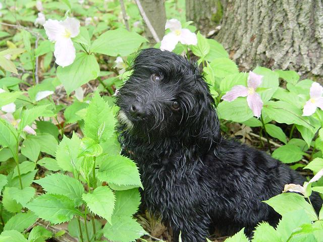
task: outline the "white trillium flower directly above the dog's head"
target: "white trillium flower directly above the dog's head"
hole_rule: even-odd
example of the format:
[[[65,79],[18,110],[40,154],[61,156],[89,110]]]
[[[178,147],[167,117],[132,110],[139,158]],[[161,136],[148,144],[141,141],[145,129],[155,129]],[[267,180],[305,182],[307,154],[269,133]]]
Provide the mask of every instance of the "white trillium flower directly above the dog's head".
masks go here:
[[[170,29],[171,32],[164,36],[161,40],[160,49],[172,51],[178,42],[182,44],[197,44],[197,37],[189,29],[182,29],[181,22],[177,19],[166,21],[165,29]]]

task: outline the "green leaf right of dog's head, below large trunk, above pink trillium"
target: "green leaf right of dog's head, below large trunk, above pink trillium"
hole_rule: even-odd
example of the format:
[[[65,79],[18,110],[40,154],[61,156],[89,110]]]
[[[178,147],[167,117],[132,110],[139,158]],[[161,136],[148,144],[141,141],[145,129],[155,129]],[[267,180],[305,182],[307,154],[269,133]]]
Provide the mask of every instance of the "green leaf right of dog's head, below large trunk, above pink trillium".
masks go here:
[[[216,58],[210,63],[214,76],[224,78],[239,73],[237,65],[229,58]]]

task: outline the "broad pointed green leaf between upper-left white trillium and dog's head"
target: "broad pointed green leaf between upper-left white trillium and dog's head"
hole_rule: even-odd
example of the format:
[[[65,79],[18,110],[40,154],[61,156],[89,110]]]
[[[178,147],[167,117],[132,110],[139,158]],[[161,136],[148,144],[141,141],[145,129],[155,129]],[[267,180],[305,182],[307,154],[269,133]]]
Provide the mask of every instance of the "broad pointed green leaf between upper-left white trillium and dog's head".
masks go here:
[[[126,56],[135,52],[147,40],[141,35],[119,28],[101,34],[91,46],[91,52],[110,56]]]

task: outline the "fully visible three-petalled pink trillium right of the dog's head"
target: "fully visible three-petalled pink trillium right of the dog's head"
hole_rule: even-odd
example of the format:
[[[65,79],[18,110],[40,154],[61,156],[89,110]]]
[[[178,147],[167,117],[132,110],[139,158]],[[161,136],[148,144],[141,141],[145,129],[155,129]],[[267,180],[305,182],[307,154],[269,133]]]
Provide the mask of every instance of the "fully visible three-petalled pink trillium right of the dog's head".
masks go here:
[[[249,72],[248,87],[242,85],[234,86],[222,99],[231,102],[238,97],[247,97],[248,106],[253,111],[253,115],[260,117],[263,102],[260,95],[256,93],[256,89],[261,84],[261,79],[262,76]]]

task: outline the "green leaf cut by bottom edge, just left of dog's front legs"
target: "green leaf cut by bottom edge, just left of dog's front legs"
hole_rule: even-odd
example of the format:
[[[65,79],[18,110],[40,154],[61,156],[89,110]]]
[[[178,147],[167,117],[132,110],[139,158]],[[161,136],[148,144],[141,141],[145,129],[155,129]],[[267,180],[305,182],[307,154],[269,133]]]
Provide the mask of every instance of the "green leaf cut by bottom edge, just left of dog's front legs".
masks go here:
[[[106,223],[103,227],[104,237],[112,241],[129,242],[147,234],[133,218],[123,216],[113,219],[112,224]]]

